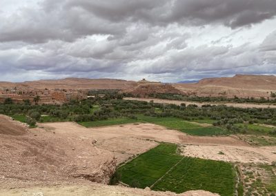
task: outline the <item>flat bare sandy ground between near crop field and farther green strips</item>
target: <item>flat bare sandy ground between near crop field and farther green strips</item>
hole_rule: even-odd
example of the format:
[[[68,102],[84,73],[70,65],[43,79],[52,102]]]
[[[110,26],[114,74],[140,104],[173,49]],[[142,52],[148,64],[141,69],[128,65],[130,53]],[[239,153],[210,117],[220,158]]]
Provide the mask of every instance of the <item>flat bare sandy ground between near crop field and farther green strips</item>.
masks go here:
[[[183,154],[191,157],[256,164],[270,164],[276,160],[276,146],[249,146],[237,137],[190,136],[155,124],[84,128],[72,122],[65,122],[43,124],[43,126],[55,130],[57,134],[63,133],[64,130],[74,130],[82,137],[93,137],[97,139],[97,147],[115,153],[119,163],[153,148],[157,145],[155,141],[186,144],[184,145],[186,147],[182,147]],[[219,155],[219,152],[224,155]]]

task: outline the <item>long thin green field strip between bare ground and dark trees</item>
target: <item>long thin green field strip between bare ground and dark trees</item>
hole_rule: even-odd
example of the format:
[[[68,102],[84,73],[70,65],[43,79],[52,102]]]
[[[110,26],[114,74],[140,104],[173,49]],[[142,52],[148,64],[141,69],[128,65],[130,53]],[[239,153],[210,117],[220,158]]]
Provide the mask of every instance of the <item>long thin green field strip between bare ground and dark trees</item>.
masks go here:
[[[189,135],[228,135],[228,131],[219,127],[201,127],[196,124],[192,124],[183,119],[175,117],[150,117],[145,115],[137,115],[137,119],[118,118],[118,119],[107,119],[101,121],[86,121],[79,122],[82,126],[86,127],[97,127],[97,126],[111,126],[118,124],[130,124],[135,122],[157,124],[164,126],[169,129],[179,130]]]

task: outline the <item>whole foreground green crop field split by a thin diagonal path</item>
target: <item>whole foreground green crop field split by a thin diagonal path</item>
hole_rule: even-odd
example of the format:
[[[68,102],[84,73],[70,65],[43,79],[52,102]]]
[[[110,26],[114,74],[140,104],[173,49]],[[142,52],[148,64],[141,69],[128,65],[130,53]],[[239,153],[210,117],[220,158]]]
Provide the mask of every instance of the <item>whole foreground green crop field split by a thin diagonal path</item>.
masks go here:
[[[182,157],[176,151],[176,144],[160,144],[119,167],[116,176],[121,182],[137,188],[153,185],[153,190],[175,193],[200,189],[221,196],[234,194],[235,170],[231,164]]]

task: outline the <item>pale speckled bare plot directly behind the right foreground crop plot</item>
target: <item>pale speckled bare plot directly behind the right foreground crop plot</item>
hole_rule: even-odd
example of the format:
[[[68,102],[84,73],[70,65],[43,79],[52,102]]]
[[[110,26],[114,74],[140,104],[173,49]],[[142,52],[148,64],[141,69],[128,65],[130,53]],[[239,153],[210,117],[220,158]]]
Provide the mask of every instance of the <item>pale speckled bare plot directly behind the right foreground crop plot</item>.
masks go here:
[[[228,162],[271,164],[276,160],[276,146],[181,146],[181,155]]]

